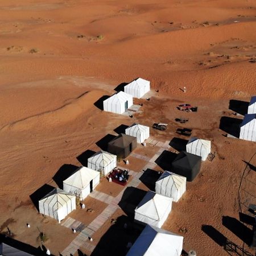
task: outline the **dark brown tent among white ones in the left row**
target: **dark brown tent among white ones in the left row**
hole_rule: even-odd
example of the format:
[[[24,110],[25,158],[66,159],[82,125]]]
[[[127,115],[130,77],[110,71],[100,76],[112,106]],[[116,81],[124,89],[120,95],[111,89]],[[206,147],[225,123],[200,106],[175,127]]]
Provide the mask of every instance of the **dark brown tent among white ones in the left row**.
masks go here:
[[[136,137],[121,133],[108,143],[108,152],[121,158],[126,158],[136,147]]]

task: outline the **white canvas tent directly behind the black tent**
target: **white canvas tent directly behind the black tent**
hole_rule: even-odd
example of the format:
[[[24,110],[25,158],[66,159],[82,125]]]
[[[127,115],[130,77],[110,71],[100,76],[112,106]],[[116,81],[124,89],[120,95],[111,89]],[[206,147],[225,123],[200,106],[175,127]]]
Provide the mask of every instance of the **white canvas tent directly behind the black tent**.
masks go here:
[[[205,161],[210,154],[210,141],[192,137],[187,143],[186,150],[188,153],[201,156]]]

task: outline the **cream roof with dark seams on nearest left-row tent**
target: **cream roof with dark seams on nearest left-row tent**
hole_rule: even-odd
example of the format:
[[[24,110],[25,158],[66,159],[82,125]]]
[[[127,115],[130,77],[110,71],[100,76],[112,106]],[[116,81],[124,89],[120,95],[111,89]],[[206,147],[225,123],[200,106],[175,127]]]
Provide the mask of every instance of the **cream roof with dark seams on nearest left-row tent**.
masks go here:
[[[73,197],[75,196],[70,195],[68,192],[63,191],[60,188],[55,188],[39,200],[39,202],[43,201],[44,203],[53,205],[52,207],[54,209],[59,209],[63,207],[63,205],[67,204],[67,202]]]

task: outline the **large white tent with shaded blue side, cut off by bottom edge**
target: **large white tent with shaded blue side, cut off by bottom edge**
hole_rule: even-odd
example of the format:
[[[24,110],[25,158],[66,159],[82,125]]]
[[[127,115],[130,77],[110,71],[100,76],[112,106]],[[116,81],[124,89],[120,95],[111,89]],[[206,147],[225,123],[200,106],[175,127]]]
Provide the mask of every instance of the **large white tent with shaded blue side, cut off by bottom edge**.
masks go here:
[[[180,256],[183,237],[147,225],[126,256]]]

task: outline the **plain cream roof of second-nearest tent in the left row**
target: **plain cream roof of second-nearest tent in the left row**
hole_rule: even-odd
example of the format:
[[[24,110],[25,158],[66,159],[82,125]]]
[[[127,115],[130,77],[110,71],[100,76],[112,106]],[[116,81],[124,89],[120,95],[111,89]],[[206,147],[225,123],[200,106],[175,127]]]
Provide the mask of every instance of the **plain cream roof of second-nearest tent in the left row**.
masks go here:
[[[100,172],[94,171],[87,167],[79,167],[79,169],[64,180],[63,183],[71,185],[76,188],[83,189],[88,186],[91,180],[99,176]]]

